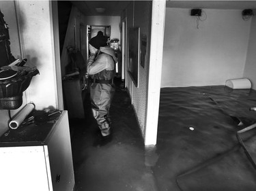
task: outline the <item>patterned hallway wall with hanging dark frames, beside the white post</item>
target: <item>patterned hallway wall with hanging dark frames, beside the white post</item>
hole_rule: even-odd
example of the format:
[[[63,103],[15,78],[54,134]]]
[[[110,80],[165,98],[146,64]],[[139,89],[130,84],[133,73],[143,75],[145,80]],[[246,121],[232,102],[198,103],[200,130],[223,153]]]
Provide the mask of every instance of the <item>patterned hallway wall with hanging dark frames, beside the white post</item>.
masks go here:
[[[145,130],[145,111],[147,103],[147,80],[150,63],[150,30],[151,30],[152,1],[132,1],[126,10],[127,29],[139,27],[140,35],[147,39],[147,50],[145,54],[145,67],[139,63],[139,85],[134,86],[130,75],[127,73],[128,92],[132,99],[139,126],[144,136]],[[128,33],[129,38],[129,33]],[[127,45],[128,47],[128,45]],[[128,63],[128,52],[126,53]]]

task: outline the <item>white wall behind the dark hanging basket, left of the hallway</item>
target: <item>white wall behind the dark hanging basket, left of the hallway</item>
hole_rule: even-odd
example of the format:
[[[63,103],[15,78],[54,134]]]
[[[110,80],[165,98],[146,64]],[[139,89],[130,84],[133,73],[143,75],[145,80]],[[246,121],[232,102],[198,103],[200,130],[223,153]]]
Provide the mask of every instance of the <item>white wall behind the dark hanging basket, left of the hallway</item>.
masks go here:
[[[27,100],[35,109],[58,108],[51,1],[16,1],[16,11],[27,65],[40,71],[27,89]]]

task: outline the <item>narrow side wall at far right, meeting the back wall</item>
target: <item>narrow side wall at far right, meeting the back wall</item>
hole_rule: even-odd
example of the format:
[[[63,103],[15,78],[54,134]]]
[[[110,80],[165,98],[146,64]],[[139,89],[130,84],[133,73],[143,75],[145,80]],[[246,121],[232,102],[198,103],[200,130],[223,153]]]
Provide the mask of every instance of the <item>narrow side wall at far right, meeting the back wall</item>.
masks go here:
[[[251,33],[248,43],[244,77],[251,80],[252,88],[256,90],[256,17],[251,18]]]

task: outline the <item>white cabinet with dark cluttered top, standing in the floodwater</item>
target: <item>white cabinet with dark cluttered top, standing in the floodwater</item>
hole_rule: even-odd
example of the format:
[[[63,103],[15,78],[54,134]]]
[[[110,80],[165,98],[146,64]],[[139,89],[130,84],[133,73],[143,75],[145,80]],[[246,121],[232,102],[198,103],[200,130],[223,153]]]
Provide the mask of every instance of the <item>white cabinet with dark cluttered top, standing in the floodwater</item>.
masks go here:
[[[0,190],[71,191],[74,169],[68,112],[0,137]]]

